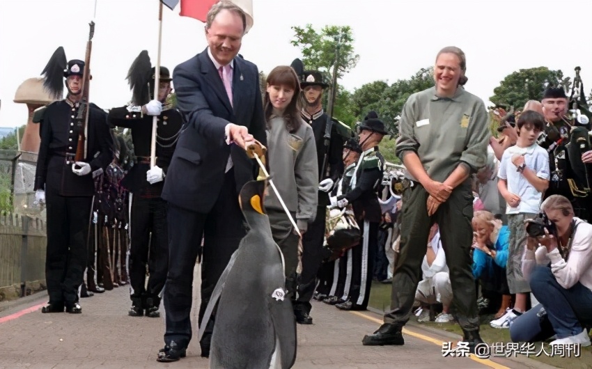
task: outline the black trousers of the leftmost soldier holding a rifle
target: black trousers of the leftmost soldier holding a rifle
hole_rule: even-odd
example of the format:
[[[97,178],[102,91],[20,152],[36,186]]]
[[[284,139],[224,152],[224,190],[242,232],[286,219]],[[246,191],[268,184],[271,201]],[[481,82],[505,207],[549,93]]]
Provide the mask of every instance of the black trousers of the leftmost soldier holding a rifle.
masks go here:
[[[47,253],[45,279],[49,303],[78,301],[84,283],[88,253],[87,237],[92,197],[65,197],[46,190]]]

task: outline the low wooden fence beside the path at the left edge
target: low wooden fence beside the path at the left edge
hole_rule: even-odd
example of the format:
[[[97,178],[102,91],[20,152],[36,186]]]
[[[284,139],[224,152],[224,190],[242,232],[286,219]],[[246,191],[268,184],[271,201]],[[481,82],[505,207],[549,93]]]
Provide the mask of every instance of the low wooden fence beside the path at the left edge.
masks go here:
[[[45,221],[0,214],[0,301],[45,289]]]

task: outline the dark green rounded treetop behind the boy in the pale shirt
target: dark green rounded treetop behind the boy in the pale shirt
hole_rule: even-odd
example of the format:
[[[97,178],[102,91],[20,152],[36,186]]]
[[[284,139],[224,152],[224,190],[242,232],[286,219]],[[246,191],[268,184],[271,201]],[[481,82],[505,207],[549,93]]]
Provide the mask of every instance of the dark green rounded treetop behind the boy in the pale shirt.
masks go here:
[[[522,109],[528,100],[540,100],[545,86],[563,86],[569,91],[570,77],[563,78],[561,70],[550,70],[547,67],[521,69],[508,74],[499,86],[493,89],[490,101],[501,107]]]

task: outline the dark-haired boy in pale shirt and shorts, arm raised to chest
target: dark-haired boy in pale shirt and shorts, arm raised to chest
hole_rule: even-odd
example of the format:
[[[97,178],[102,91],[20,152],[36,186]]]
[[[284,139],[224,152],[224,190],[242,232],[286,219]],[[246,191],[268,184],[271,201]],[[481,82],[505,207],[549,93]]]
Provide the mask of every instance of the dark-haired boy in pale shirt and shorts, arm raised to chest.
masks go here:
[[[524,220],[538,214],[543,193],[549,187],[549,154],[536,143],[545,127],[545,118],[536,111],[524,111],[516,123],[518,140],[504,151],[497,174],[497,187],[506,200],[510,228],[510,247],[506,274],[510,293],[516,295],[513,309],[491,322],[494,328],[508,328],[511,321],[526,310],[529,283],[522,275],[522,250],[527,233]]]

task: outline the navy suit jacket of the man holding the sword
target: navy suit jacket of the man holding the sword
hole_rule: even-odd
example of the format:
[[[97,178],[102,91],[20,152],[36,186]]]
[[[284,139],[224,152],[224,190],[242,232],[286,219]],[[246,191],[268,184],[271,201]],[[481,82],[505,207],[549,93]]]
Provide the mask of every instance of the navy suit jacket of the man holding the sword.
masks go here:
[[[259,72],[253,63],[234,58],[231,105],[205,49],[177,65],[173,86],[184,123],[166,173],[162,198],[172,205],[207,214],[219,196],[230,155],[237,196],[242,186],[255,178],[256,162],[242,148],[226,144],[224,128],[228,123],[244,125],[266,145]]]

